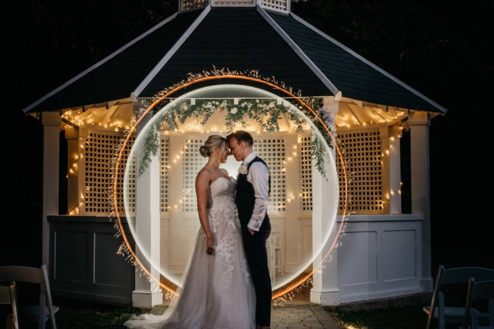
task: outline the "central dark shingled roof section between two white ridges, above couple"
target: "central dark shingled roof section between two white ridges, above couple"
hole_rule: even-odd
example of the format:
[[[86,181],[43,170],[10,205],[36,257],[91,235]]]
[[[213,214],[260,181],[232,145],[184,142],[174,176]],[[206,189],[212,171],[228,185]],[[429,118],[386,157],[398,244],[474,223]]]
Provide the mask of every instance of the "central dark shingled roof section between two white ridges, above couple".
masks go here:
[[[301,89],[304,96],[332,95],[255,7],[217,7],[211,8],[139,97],[151,97],[184,79],[188,72],[210,70],[213,65],[240,71],[257,69],[261,76],[274,76],[295,90]],[[193,85],[184,92],[218,83],[255,85],[272,91],[245,80],[215,80]]]

